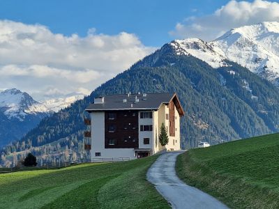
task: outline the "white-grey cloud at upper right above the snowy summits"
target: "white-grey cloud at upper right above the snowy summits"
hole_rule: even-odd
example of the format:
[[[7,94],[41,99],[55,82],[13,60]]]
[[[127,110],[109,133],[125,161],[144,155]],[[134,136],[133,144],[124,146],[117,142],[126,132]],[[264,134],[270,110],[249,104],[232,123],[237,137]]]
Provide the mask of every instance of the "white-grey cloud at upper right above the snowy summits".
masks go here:
[[[262,0],[229,1],[211,15],[186,18],[169,33],[176,38],[213,40],[229,29],[264,21],[279,22],[279,3]]]

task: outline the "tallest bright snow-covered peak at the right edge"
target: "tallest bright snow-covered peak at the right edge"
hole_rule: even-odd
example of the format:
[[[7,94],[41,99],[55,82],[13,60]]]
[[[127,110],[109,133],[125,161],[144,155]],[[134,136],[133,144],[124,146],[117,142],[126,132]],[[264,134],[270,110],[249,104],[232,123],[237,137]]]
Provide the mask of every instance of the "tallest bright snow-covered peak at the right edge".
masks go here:
[[[232,29],[213,42],[227,59],[279,86],[279,22]]]

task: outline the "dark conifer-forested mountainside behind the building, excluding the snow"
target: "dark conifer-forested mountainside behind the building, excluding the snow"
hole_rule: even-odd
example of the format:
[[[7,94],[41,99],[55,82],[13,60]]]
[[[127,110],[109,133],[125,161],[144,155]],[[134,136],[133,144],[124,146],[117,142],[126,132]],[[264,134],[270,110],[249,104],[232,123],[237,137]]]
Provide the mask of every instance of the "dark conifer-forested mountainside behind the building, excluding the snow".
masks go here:
[[[5,152],[64,137],[83,139],[84,109],[96,95],[176,92],[186,111],[181,118],[183,148],[197,146],[198,141],[218,144],[223,141],[279,131],[278,88],[229,62],[218,69],[194,56],[178,56],[172,45],[164,45],[129,70],[96,88],[90,96],[43,119],[21,141]]]

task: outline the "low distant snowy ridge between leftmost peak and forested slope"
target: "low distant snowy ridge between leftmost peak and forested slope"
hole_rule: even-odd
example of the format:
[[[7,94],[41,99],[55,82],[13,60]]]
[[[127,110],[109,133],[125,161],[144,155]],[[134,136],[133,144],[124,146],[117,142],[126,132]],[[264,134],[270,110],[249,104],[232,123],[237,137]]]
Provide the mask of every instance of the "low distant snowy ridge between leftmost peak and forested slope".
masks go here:
[[[70,104],[77,100],[82,100],[84,98],[84,95],[73,95],[67,98],[57,98],[57,99],[51,99],[51,100],[45,100],[42,101],[43,104],[45,104],[45,107],[47,109],[50,109],[52,111],[59,111],[60,109],[69,107]]]

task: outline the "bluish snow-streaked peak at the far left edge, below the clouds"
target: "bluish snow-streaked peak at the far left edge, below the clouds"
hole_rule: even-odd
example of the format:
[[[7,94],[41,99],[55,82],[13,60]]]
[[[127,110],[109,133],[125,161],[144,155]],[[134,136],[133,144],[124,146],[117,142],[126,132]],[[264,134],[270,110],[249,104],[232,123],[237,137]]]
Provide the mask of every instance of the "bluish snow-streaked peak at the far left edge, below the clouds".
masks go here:
[[[27,115],[50,114],[44,104],[36,102],[28,93],[16,88],[0,92],[0,111],[3,111],[9,119],[17,118],[24,121]]]

